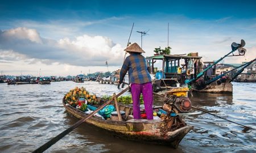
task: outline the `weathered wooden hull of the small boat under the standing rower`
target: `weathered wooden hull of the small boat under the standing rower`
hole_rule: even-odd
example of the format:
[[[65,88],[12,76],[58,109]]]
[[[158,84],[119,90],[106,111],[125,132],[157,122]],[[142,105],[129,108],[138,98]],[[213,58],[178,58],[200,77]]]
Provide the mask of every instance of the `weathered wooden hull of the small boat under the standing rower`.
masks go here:
[[[97,97],[97,101],[100,104],[106,102],[99,97]],[[67,101],[65,101],[65,97],[63,98],[63,105],[68,113],[76,118],[81,119],[88,116],[85,112],[69,105]],[[114,102],[112,105],[114,105]],[[120,138],[144,143],[168,145],[173,148],[177,148],[181,139],[192,129],[192,126],[186,125],[184,121],[181,121],[183,124],[179,124],[179,128],[168,131],[163,130],[163,126],[166,124],[164,124],[162,120],[129,120],[128,116],[133,114],[133,107],[122,103],[118,103],[118,107],[120,111],[125,112],[125,116],[122,117],[123,121],[102,120],[100,117],[93,116],[85,122],[97,126],[98,128],[108,130],[110,133]],[[179,116],[177,117],[180,118]],[[176,120],[174,122],[176,122]]]

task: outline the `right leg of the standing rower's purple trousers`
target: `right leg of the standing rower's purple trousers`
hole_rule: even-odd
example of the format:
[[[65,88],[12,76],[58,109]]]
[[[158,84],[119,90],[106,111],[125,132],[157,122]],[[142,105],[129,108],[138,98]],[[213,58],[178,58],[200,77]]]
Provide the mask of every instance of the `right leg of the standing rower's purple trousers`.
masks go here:
[[[144,107],[147,114],[147,120],[153,120],[153,95],[152,95],[152,83],[142,84],[142,95],[144,101]]]

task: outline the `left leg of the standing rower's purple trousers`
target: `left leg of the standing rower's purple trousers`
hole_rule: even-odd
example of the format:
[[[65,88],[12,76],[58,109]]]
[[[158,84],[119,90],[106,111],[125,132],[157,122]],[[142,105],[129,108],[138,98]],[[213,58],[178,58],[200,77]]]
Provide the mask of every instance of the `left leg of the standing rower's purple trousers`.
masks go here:
[[[141,96],[142,85],[131,83],[131,99],[133,99],[133,117],[141,119],[141,111],[139,110],[139,97]]]

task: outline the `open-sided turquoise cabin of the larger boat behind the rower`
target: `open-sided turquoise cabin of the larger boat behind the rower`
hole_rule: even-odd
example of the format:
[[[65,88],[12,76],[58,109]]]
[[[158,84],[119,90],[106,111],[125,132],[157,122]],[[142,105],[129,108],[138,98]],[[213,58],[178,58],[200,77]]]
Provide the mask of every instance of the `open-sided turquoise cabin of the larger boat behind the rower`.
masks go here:
[[[189,54],[191,55],[191,54]],[[162,54],[146,57],[151,75],[154,75],[154,91],[179,87],[184,84],[186,77],[196,77],[203,64],[198,54]]]

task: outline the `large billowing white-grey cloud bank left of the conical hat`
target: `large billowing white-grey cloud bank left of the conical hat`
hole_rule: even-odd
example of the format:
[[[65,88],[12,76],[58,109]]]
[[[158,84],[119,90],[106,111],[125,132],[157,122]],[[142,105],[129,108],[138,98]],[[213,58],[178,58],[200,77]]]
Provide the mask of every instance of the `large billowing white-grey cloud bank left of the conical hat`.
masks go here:
[[[82,35],[56,41],[42,38],[35,29],[28,28],[1,31],[0,49],[2,59],[22,57],[33,59],[31,63],[59,62],[75,66],[104,66],[106,60],[110,66],[118,66],[123,57],[122,46],[108,37]]]

